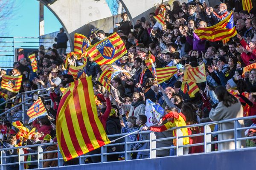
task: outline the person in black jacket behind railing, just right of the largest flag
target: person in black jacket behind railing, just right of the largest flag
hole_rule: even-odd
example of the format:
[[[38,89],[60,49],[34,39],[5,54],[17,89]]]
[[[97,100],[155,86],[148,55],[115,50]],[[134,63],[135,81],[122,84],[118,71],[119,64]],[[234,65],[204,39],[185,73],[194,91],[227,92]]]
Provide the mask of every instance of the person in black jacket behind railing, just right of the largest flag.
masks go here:
[[[121,133],[121,123],[119,120],[119,117],[116,116],[117,111],[116,109],[111,109],[111,113],[108,117],[107,124],[106,124],[106,133],[107,135],[113,135],[113,134],[119,134]],[[109,140],[114,140],[117,139],[118,137],[109,137]],[[116,142],[113,143],[120,143],[121,140],[117,140]],[[113,152],[120,152],[122,151],[122,145],[116,145],[116,146],[110,146],[107,147],[108,153],[113,153]],[[114,155],[108,155],[107,156],[107,161],[118,161],[118,156],[119,154],[114,154]]]

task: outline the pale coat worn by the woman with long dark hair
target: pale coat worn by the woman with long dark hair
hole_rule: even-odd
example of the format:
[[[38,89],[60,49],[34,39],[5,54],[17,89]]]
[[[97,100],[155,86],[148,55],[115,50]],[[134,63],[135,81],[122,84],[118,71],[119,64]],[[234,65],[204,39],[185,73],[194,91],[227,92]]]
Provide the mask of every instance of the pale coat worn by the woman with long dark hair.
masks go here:
[[[224,106],[223,102],[219,102],[216,108],[212,108],[212,110],[209,113],[209,118],[212,121],[220,121],[220,120],[226,120],[226,119],[233,119],[233,118],[239,118],[243,117],[243,108],[238,100],[237,103],[232,104],[230,107]],[[239,120],[238,127],[243,125],[244,121]],[[234,122],[227,122],[227,123],[221,123],[218,124],[218,130],[228,130],[234,128]],[[237,132],[238,136],[241,136],[241,132]],[[225,133],[219,133],[218,134],[218,141],[226,140],[226,139],[234,139],[234,132],[225,132]],[[241,146],[241,141],[237,142],[237,147],[239,148]],[[230,150],[235,149],[235,142],[223,142],[218,144],[218,150]]]

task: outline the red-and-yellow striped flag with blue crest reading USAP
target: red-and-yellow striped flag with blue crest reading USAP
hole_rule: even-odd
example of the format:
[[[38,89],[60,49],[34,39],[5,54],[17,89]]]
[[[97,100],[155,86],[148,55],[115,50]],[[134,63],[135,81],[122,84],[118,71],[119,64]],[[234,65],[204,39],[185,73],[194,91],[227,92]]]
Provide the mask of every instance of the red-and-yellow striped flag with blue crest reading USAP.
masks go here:
[[[87,55],[99,65],[111,64],[127,53],[124,42],[117,33],[86,49]]]

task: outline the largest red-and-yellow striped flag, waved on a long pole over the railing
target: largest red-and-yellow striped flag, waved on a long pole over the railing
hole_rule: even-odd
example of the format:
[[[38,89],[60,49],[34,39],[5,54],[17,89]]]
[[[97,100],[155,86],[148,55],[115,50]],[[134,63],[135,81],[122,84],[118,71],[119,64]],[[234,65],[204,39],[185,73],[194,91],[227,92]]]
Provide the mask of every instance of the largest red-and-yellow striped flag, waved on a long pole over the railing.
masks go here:
[[[56,135],[64,161],[110,143],[97,115],[91,77],[71,82],[59,105]]]

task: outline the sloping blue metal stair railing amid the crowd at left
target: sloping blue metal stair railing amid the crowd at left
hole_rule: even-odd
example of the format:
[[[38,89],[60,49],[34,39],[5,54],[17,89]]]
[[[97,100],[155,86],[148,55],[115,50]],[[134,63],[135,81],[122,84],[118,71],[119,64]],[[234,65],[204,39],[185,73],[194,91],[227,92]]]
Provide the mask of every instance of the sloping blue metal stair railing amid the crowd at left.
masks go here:
[[[3,113],[0,113],[0,117],[2,119],[6,118],[8,120],[8,117],[6,117],[5,115],[10,113],[11,111],[17,112],[20,111],[22,113],[22,117],[12,117],[13,120],[22,120],[23,122],[25,122],[25,114],[26,111],[28,110],[28,108],[30,107],[30,105],[32,105],[32,96],[30,96],[30,94],[36,93],[39,96],[42,96],[45,98],[44,102],[50,102],[51,106],[53,106],[53,102],[49,97],[48,91],[50,88],[41,88],[41,89],[37,89],[37,90],[32,90],[32,91],[25,91],[22,93],[17,94],[16,96],[13,96],[10,99],[7,99],[5,102],[1,103],[1,105],[6,105],[7,103],[11,102],[13,99],[17,99],[18,97],[21,99],[21,102],[17,105],[14,105],[12,108],[9,108],[8,110],[4,111]],[[21,110],[19,109],[21,107]]]

